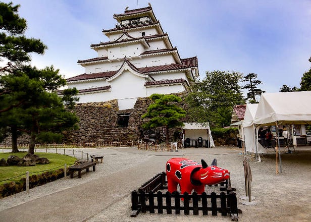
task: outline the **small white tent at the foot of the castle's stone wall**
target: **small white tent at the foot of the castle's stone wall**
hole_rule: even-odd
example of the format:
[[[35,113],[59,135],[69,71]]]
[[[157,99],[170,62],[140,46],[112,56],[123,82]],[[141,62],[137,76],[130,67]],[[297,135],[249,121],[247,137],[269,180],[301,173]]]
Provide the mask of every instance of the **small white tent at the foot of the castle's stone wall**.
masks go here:
[[[184,130],[183,141],[186,138],[197,139],[202,137],[203,140],[209,141],[210,147],[215,147],[209,123],[183,123]]]

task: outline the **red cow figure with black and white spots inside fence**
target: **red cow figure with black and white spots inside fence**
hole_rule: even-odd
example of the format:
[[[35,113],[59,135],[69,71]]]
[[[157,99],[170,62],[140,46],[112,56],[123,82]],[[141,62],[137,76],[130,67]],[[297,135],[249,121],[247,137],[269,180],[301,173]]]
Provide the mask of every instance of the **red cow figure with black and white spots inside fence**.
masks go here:
[[[230,177],[228,170],[216,167],[216,159],[210,167],[201,159],[201,163],[186,158],[171,158],[166,163],[168,191],[177,191],[180,185],[181,193],[190,194],[192,190],[201,194],[205,185],[218,184]]]

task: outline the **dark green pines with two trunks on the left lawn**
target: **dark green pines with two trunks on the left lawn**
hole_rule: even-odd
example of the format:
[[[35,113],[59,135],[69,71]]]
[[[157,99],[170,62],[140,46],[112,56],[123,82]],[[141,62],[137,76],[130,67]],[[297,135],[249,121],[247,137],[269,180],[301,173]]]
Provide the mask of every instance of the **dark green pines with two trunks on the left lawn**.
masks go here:
[[[28,66],[30,52],[43,54],[46,46],[34,38],[26,38],[26,21],[18,15],[19,5],[0,2],[0,58],[8,64],[0,68],[0,132],[12,134],[12,151],[18,152],[17,137],[29,133],[29,152],[36,141],[60,139],[64,129],[75,128],[73,107],[76,89],[64,91],[61,98],[54,90],[66,85],[58,70],[37,70]],[[26,62],[26,63],[25,63]]]

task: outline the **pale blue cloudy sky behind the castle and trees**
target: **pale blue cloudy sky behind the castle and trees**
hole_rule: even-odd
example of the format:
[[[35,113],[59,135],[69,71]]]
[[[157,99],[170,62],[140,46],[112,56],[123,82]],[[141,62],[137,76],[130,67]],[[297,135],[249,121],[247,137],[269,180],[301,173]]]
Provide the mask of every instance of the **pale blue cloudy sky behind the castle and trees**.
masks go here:
[[[198,57],[201,79],[213,70],[256,73],[260,88],[278,92],[283,84],[299,87],[310,68],[310,0],[139,0],[139,8],[148,2],[180,56]],[[26,35],[48,46],[44,55],[32,56],[32,64],[54,65],[65,78],[84,73],[77,60],[97,56],[90,44],[108,40],[101,30],[115,27],[113,14],[137,8],[137,0],[13,3],[21,5]]]

